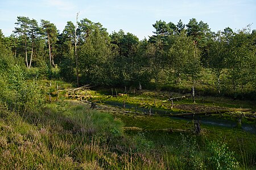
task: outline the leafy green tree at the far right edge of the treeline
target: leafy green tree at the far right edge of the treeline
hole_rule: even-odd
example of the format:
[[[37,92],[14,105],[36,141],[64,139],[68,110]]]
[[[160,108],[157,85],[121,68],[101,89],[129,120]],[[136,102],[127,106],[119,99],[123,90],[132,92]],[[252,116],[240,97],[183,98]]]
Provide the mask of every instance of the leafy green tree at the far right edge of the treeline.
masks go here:
[[[250,37],[249,28],[233,33],[228,44],[228,80],[232,84],[232,92],[238,94],[238,88],[242,93],[247,84],[253,81],[255,73],[255,46]]]

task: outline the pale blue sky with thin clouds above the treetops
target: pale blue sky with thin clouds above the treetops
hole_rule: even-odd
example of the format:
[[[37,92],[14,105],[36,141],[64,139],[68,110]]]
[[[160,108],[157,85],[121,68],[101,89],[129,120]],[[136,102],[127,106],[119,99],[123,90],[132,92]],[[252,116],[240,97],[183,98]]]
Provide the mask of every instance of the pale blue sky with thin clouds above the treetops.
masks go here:
[[[0,0],[0,29],[10,36],[17,16],[26,16],[49,20],[62,32],[68,21],[76,22],[77,12],[78,20],[100,22],[109,33],[123,29],[141,40],[154,34],[156,20],[187,24],[195,18],[214,32],[249,24],[256,29],[256,0]]]

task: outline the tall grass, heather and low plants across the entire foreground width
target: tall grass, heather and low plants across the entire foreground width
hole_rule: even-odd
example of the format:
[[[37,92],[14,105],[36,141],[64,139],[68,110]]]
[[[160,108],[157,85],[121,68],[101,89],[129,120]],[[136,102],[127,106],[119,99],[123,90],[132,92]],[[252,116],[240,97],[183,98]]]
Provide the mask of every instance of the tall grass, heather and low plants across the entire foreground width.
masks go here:
[[[118,118],[76,101],[22,116],[2,107],[0,116],[2,169],[237,169],[237,160],[255,168],[255,145],[248,151],[245,141],[235,153],[205,135],[126,134]]]

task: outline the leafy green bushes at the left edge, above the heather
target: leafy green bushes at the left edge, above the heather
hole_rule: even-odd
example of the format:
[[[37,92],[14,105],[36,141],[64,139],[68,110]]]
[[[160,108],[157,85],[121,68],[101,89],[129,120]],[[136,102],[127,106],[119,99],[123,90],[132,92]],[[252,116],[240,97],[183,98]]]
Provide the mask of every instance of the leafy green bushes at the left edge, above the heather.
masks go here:
[[[26,83],[26,73],[19,65],[15,64],[14,57],[9,50],[3,48],[0,66],[0,96],[1,103],[6,103],[9,109],[16,111],[30,111],[39,108],[42,104],[43,92],[33,83]]]

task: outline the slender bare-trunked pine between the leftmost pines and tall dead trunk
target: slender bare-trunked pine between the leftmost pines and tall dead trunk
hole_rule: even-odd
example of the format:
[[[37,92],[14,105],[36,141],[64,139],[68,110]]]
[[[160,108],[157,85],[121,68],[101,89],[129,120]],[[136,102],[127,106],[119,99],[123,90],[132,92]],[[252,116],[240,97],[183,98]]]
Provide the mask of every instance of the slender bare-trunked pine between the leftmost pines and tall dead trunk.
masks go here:
[[[57,28],[55,24],[50,23],[48,20],[42,19],[41,24],[42,24],[43,31],[47,36],[48,49],[49,49],[49,64],[52,66],[55,66],[52,52],[53,52],[54,45],[57,41],[57,35],[58,35]]]

